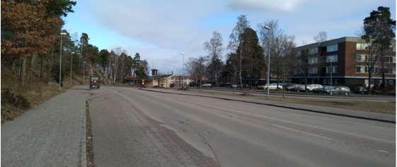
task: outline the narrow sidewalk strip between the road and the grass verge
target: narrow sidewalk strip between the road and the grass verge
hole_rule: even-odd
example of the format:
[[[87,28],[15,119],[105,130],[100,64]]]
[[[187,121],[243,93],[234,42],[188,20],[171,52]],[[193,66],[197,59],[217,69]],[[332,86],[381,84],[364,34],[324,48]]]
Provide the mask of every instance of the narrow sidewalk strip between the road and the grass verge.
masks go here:
[[[198,92],[192,91],[176,91],[171,89],[154,89],[154,88],[142,88],[144,91],[156,91],[161,93],[174,93],[180,95],[187,95],[187,96],[201,96],[207,98],[217,98],[221,100],[235,100],[241,101],[246,103],[255,103],[260,105],[270,105],[275,107],[281,108],[290,108],[294,110],[305,110],[309,112],[316,112],[316,113],[326,113],[330,115],[340,115],[346,117],[357,117],[366,120],[377,120],[381,122],[393,122],[396,123],[396,115],[394,114],[386,114],[386,113],[372,113],[360,110],[348,110],[343,108],[331,108],[325,106],[318,106],[318,105],[305,105],[299,103],[285,103],[280,101],[274,100],[259,100],[259,99],[249,99],[249,98],[238,98],[238,97],[231,97],[231,96],[219,96],[219,95],[210,95],[210,94],[203,94]]]

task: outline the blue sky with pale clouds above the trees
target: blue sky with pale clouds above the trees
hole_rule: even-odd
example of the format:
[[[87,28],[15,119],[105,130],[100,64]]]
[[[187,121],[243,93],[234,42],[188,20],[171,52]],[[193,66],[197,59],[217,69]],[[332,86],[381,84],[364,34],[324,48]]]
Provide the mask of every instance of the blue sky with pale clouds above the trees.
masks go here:
[[[394,0],[81,0],[64,18],[64,29],[76,37],[87,33],[100,50],[121,47],[131,56],[139,52],[150,69],[179,74],[183,57],[186,62],[207,55],[204,42],[214,31],[222,35],[225,59],[241,14],[257,33],[258,24],[277,20],[299,46],[313,42],[320,31],[328,33],[328,40],[355,36],[378,6],[391,8],[396,19]]]

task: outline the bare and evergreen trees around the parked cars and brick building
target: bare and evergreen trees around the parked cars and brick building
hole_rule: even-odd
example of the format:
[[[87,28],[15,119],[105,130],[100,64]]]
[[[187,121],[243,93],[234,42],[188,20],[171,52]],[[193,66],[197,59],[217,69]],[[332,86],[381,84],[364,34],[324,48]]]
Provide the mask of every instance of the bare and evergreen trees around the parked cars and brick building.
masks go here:
[[[357,36],[364,40],[364,47],[368,52],[368,57],[364,59],[368,81],[374,83],[373,75],[379,74],[382,84],[374,88],[383,93],[396,90],[395,86],[386,86],[385,79],[385,74],[390,73],[385,62],[389,61],[387,55],[393,52],[391,42],[396,40],[395,29],[396,21],[391,18],[390,8],[379,6],[363,19],[362,29],[357,32]],[[327,33],[321,31],[313,40],[322,46],[321,43],[328,40]],[[318,52],[316,61],[309,62],[313,54],[298,53],[294,50],[294,35],[285,34],[277,20],[267,20],[251,27],[245,15],[238,16],[237,23],[229,35],[228,45],[225,47],[222,41],[221,34],[214,31],[212,38],[204,43],[207,54],[188,59],[185,69],[195,81],[193,86],[202,86],[203,83],[217,86],[232,83],[240,89],[252,89],[258,84],[263,84],[258,83],[258,80],[261,76],[263,78],[267,75],[266,67],[270,63],[272,81],[279,84],[288,82],[289,76],[300,75],[304,79],[306,89],[308,79],[313,77],[314,73],[310,70],[316,69],[316,74],[326,73],[326,68],[318,62],[330,61],[325,59],[323,52]],[[321,75],[317,77],[319,81]],[[371,84],[368,84],[368,87],[369,93],[372,93]]]

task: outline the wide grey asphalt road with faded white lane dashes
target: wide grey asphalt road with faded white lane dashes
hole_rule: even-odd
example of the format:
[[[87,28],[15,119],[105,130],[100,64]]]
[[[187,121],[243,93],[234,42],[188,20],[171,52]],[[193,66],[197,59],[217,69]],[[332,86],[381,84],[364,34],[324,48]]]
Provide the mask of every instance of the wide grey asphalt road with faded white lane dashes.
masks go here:
[[[97,166],[396,166],[396,125],[228,100],[102,87]]]

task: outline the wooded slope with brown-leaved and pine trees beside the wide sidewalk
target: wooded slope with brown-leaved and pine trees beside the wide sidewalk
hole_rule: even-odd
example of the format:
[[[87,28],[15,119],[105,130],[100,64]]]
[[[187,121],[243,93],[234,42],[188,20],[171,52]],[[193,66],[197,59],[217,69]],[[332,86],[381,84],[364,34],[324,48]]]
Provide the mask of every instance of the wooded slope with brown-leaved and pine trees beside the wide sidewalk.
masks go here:
[[[139,53],[131,57],[120,47],[98,50],[87,33],[64,30],[64,17],[75,5],[70,0],[1,0],[1,122],[71,86],[88,84],[91,73],[100,74],[104,84],[122,83],[127,74],[147,76],[147,62]]]

